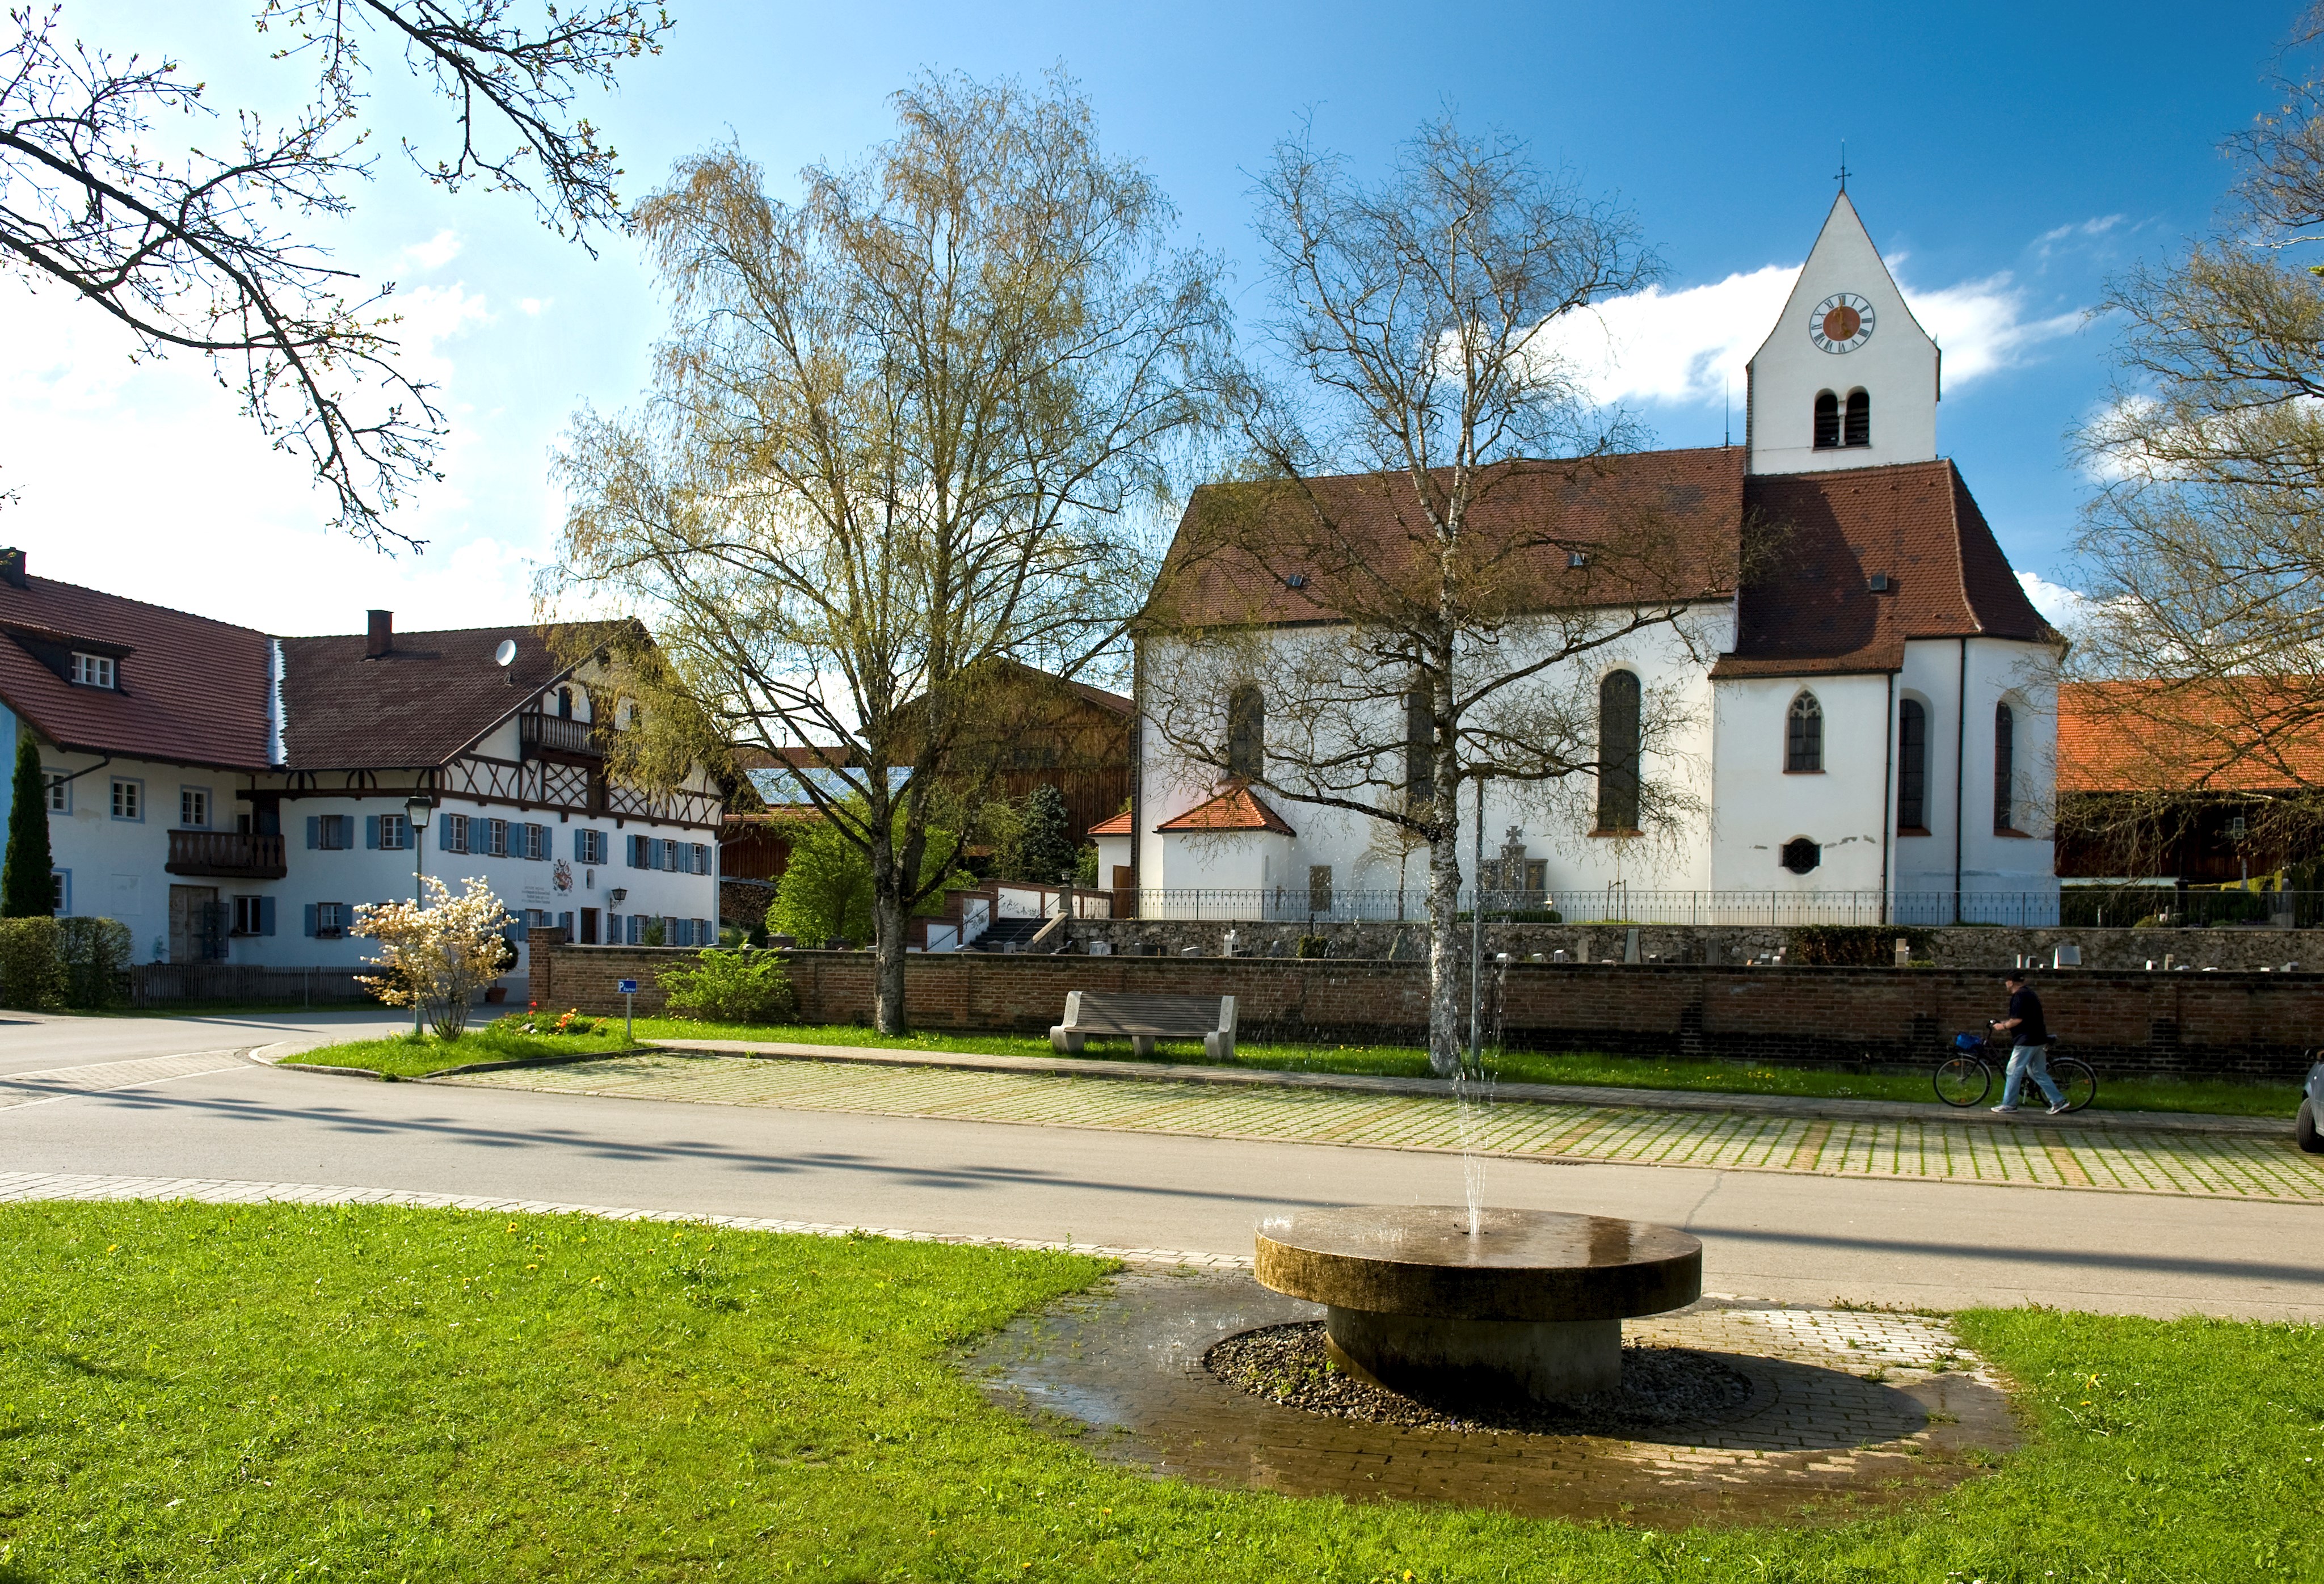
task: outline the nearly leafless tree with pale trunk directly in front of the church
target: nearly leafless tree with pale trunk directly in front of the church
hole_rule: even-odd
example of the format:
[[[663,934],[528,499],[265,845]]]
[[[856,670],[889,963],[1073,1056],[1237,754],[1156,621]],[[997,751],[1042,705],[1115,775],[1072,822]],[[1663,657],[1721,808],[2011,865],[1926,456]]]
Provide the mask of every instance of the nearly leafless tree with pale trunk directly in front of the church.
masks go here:
[[[1571,804],[1601,766],[1580,662],[1687,648],[1692,602],[1734,590],[1731,543],[1706,560],[1669,492],[1618,465],[1629,427],[1552,351],[1564,316],[1655,272],[1618,209],[1450,121],[1380,183],[1285,142],[1260,202],[1290,374],[1246,388],[1253,478],[1199,490],[1181,525],[1141,704],[1195,778],[1427,845],[1429,1059],[1448,1073],[1462,790]],[[1573,492],[1587,520],[1555,509]],[[1264,746],[1239,697],[1262,699]],[[1673,708],[1648,690],[1624,766],[1666,743]],[[1683,801],[1641,785],[1613,818],[1652,829]]]

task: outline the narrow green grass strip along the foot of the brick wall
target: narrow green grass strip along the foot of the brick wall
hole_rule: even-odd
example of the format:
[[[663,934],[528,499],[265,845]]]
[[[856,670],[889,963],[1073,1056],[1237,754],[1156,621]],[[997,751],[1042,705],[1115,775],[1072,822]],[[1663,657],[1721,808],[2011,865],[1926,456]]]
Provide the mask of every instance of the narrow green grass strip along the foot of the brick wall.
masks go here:
[[[1020,1034],[874,1034],[858,1024],[734,1027],[639,1017],[641,1041],[769,1041],[781,1045],[878,1045],[888,1050],[960,1050],[990,1057],[1055,1057],[1046,1038]],[[1132,1061],[1129,1041],[1090,1041],[1085,1057]],[[1199,1043],[1164,1041],[1155,1061],[1204,1061]],[[1378,1073],[1427,1078],[1429,1057],[1411,1045],[1269,1045],[1234,1047],[1234,1066],[1292,1073]],[[1504,1050],[1490,1057],[1501,1082],[1608,1085],[1618,1089],[1690,1089],[1706,1094],[1801,1094],[1815,1099],[1936,1103],[1927,1071],[1836,1073],[1773,1061],[1685,1061],[1678,1057],[1613,1057],[1599,1052]],[[1994,1071],[2001,1099],[2001,1071]],[[2298,1092],[2291,1082],[2252,1085],[2229,1080],[2099,1078],[2094,1110],[2192,1110],[2229,1117],[2291,1117]]]

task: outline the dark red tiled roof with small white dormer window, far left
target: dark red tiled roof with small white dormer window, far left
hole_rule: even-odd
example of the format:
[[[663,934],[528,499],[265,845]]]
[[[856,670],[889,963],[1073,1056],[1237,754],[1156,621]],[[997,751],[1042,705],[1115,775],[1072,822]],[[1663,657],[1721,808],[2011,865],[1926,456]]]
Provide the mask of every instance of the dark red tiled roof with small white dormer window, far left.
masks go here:
[[[267,766],[267,634],[49,578],[0,581],[0,699],[49,741]],[[65,681],[72,641],[119,655],[119,690]]]

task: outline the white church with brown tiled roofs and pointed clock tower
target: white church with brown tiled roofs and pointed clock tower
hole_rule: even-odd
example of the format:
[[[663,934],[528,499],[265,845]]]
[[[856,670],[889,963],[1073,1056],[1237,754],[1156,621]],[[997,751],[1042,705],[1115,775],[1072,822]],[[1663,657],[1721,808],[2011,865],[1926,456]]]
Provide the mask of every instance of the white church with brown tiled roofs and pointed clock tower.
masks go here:
[[[1938,455],[1941,395],[1941,348],[1843,190],[1750,360],[1741,446],[1618,455],[1585,483],[1545,474],[1504,502],[1513,523],[1571,525],[1555,541],[1576,546],[1622,502],[1652,502],[1706,571],[1680,620],[1541,676],[1594,699],[1580,776],[1594,785],[1564,785],[1559,801],[1485,783],[1487,894],[1638,922],[2057,920],[2059,636]],[[1362,481],[1313,488],[1334,483]],[[1559,564],[1585,562],[1576,548]],[[1178,574],[1192,622],[1141,639],[1134,801],[1095,831],[1099,876],[1148,917],[1408,915],[1425,850],[1269,773],[1269,739],[1287,741],[1269,678],[1297,664],[1301,634],[1348,618],[1297,571],[1262,574],[1241,578],[1241,604],[1218,578]],[[1620,581],[1592,588],[1578,599],[1624,599]],[[1534,620],[1552,622],[1555,599]],[[1257,634],[1234,676],[1202,662],[1204,602],[1218,632]],[[1641,732],[1641,699],[1659,732]],[[1190,711],[1218,713],[1243,757],[1190,759],[1185,732],[1164,729]],[[1636,829],[1641,787],[1673,790],[1680,811],[1652,838]],[[1478,811],[1466,790],[1462,804],[1473,883]]]

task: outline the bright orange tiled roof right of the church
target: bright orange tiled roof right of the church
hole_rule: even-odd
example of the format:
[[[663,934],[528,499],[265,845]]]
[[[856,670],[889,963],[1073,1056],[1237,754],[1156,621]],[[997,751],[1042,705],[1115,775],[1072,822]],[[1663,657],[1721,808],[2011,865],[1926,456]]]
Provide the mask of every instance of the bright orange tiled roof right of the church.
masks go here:
[[[2324,785],[2312,687],[2266,678],[2068,683],[2059,792],[2289,792]]]

